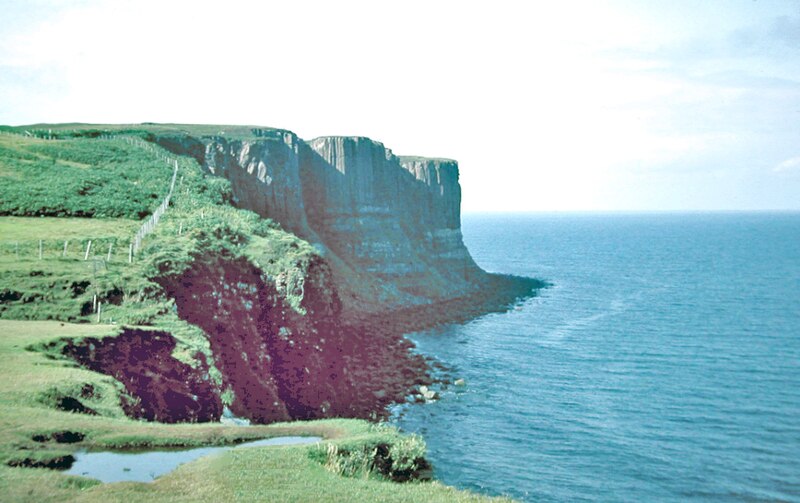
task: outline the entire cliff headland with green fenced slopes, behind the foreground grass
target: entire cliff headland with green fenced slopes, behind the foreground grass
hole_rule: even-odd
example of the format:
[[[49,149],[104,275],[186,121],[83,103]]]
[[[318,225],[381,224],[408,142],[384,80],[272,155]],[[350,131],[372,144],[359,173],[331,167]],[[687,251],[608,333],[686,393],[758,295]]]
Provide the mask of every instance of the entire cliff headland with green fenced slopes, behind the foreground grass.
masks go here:
[[[542,286],[472,260],[453,160],[396,156],[363,137],[304,141],[245,126],[102,128],[53,127],[52,142],[0,137],[16,149],[0,153],[15,174],[4,179],[7,193],[18,196],[6,211],[37,217],[18,226],[31,236],[22,255],[39,254],[20,266],[19,247],[11,252],[0,317],[97,322],[102,304],[118,334],[48,351],[113,376],[133,417],[209,421],[227,406],[259,423],[375,418],[432,384],[404,333],[507,309]],[[105,222],[115,233],[105,241],[92,234],[100,221],[85,217],[104,200],[115,212],[105,216],[140,220],[141,206],[128,203],[158,200],[173,163],[181,176],[169,211],[135,258],[125,247],[133,231],[119,221]],[[102,197],[86,196],[95,192]],[[43,213],[28,194],[47,195],[52,208]],[[42,259],[32,223],[44,214],[84,217],[47,227],[54,242],[44,255],[62,260]],[[97,253],[102,242],[106,267],[87,268],[82,251],[63,260],[74,239],[62,233],[67,223],[80,248],[94,242]],[[82,391],[59,393],[56,405],[96,412]]]

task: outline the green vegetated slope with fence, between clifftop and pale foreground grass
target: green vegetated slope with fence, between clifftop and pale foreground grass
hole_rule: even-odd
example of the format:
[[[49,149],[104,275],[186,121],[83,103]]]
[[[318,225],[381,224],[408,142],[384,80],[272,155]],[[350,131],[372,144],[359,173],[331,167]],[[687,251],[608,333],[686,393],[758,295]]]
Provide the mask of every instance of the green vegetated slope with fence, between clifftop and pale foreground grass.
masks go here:
[[[6,150],[0,150],[0,165],[9,175],[0,176],[2,204],[7,213],[15,215],[38,211],[38,203],[32,202],[30,194],[39,191],[45,200],[60,200],[60,181],[64,178],[82,186],[93,179],[94,172],[111,169],[103,164],[109,156],[122,159],[114,168],[120,178],[109,181],[115,192],[111,201],[114,205],[120,200],[136,199],[142,179],[152,175],[148,170],[153,162],[159,176],[165,167],[171,175],[171,169],[159,159],[165,151],[155,146],[144,149],[121,139],[46,141],[0,134],[2,146]],[[42,177],[31,178],[29,167],[16,161],[36,158],[34,153],[43,151],[50,152],[53,158],[70,157],[94,168],[66,172],[55,165],[40,166]],[[68,215],[95,218],[0,217],[0,318],[96,322],[96,297],[103,305],[100,321],[169,331],[178,341],[174,356],[194,366],[198,355],[203,354],[212,364],[212,376],[219,381],[207,336],[177,317],[174,302],[155,280],[180,274],[198,257],[208,254],[245,256],[246,249],[255,250],[248,246],[253,244],[260,249],[248,252],[248,260],[263,263],[265,277],[276,278],[285,270],[285,275],[294,278],[304,272],[304,264],[315,252],[273,222],[230,206],[230,184],[208,176],[194,159],[181,158],[179,173],[169,211],[156,232],[145,239],[132,264],[128,263],[128,246],[141,221],[97,218],[93,209],[96,201],[91,197],[72,194],[62,201],[61,209]],[[42,184],[40,178],[49,181]],[[160,181],[159,193],[166,191],[169,178]],[[11,184],[11,188],[2,183]],[[151,199],[153,202],[148,204],[152,207],[160,202]],[[50,214],[50,210],[43,214]],[[90,253],[84,260],[87,248]],[[292,298],[290,304],[299,309],[301,300]]]

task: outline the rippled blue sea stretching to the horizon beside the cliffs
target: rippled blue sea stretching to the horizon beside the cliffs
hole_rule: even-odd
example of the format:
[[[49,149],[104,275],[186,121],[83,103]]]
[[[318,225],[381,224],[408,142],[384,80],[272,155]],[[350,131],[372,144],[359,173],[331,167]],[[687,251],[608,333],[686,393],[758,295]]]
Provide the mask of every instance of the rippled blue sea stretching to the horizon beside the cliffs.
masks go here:
[[[525,501],[800,501],[800,214],[468,215],[553,286],[410,334],[467,381],[403,406],[444,483]]]

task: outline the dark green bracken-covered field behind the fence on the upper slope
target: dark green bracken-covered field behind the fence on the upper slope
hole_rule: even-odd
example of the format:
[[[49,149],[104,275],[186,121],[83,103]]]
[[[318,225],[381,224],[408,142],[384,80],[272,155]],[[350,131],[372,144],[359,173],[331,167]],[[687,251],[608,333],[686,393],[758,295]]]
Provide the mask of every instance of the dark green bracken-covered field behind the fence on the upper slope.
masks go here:
[[[124,139],[43,141],[0,135],[0,215],[147,216],[172,167]]]

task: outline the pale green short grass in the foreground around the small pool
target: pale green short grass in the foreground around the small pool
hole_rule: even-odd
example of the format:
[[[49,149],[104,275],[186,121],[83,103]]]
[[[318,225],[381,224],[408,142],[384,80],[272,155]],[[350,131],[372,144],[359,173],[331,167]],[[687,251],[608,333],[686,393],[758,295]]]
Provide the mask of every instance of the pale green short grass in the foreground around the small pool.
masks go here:
[[[111,377],[30,351],[63,337],[113,335],[111,325],[0,320],[0,494],[5,501],[488,501],[436,482],[398,484],[372,473],[343,477],[326,469],[315,452],[330,443],[352,450],[401,444],[394,429],[359,420],[333,419],[237,427],[163,425],[124,417],[120,385]],[[85,399],[99,416],[63,412],[43,400],[52,390],[91,385]],[[72,431],[75,444],[37,442],[36,435]],[[9,467],[9,461],[47,460],[77,449],[134,446],[199,446],[283,435],[322,436],[322,447],[285,446],[231,450],[182,465],[154,483],[100,484],[44,468]],[[407,440],[406,440],[407,441]],[[413,443],[413,442],[412,442]],[[415,448],[418,448],[415,447]]]

